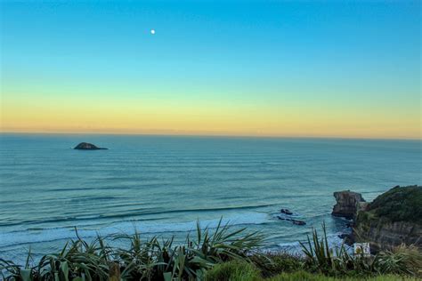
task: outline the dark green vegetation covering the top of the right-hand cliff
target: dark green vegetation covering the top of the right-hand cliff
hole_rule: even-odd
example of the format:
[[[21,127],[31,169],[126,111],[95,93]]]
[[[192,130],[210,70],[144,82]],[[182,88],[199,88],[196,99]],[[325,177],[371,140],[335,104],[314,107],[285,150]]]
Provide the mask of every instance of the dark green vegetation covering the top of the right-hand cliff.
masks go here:
[[[389,221],[422,223],[422,187],[390,189],[370,203],[368,211],[375,217]]]

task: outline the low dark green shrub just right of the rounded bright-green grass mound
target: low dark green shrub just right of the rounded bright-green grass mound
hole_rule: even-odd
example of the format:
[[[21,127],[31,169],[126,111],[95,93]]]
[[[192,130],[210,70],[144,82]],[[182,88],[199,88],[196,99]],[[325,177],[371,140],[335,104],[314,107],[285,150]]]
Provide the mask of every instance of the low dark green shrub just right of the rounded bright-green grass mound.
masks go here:
[[[250,259],[261,270],[263,277],[272,277],[282,272],[292,272],[304,268],[303,257],[282,251],[256,254]]]

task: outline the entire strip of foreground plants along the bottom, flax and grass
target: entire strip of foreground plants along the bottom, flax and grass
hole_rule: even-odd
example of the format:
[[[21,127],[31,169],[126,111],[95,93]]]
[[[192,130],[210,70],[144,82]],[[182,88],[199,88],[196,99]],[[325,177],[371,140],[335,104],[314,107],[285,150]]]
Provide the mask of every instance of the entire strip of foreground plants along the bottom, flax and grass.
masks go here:
[[[313,230],[302,243],[303,255],[259,252],[263,236],[231,230],[221,221],[214,230],[197,225],[196,237],[183,245],[173,239],[143,241],[139,233],[97,237],[87,243],[80,237],[60,253],[47,254],[34,263],[31,253],[24,266],[0,259],[4,280],[416,280],[422,277],[422,253],[400,246],[376,256],[353,256],[345,245],[330,247],[325,225],[322,236]],[[126,248],[106,241],[127,240]]]

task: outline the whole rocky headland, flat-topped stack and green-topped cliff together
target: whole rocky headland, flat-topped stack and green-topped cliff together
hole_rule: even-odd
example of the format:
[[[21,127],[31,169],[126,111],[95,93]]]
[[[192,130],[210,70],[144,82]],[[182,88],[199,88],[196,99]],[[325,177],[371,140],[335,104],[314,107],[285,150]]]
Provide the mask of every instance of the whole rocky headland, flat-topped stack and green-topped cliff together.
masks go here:
[[[422,187],[396,186],[367,203],[356,192],[335,192],[334,216],[352,219],[347,240],[369,242],[371,252],[398,245],[422,248]]]

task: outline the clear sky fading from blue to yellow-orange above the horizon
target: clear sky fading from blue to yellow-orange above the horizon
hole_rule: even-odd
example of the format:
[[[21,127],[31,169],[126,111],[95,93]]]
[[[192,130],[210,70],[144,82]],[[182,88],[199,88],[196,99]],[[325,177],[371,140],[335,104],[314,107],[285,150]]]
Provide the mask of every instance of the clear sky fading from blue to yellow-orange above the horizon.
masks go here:
[[[0,2],[1,132],[421,139],[420,1]]]

